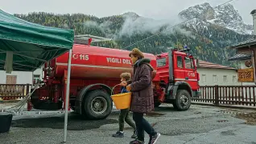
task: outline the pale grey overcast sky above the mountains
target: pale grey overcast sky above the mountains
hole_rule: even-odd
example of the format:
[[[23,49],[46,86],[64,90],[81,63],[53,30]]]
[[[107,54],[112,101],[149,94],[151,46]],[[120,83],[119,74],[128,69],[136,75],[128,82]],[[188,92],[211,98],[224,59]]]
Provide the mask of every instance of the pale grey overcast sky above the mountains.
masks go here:
[[[29,12],[51,12],[55,14],[91,14],[105,17],[123,14],[128,11],[155,19],[167,19],[181,10],[209,2],[212,6],[228,0],[0,0],[0,9],[10,14],[27,14]],[[250,11],[256,9],[256,0],[234,0],[233,4],[244,21],[252,24]]]

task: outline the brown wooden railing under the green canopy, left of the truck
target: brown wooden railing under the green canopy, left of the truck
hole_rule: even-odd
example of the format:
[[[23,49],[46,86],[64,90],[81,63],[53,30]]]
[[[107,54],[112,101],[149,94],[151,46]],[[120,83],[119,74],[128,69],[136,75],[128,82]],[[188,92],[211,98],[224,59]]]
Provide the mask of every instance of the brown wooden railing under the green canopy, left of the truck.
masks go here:
[[[0,84],[0,100],[24,98],[30,91],[30,84]]]

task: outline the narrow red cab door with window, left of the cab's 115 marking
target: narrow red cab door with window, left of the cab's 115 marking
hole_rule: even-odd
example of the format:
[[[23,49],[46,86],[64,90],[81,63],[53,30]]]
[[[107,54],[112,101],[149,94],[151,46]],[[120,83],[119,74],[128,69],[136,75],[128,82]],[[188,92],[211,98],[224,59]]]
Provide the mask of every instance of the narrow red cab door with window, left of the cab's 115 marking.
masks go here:
[[[174,80],[184,81],[184,55],[175,54],[174,56]]]

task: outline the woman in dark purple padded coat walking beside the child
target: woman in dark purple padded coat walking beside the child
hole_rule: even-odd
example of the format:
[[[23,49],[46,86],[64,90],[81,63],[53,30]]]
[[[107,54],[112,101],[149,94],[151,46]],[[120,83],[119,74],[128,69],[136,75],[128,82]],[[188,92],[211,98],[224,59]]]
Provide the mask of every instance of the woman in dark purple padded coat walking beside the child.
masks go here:
[[[132,93],[130,111],[133,112],[138,138],[130,144],[144,143],[144,130],[150,136],[149,144],[155,144],[160,134],[155,132],[149,122],[143,118],[144,114],[154,109],[154,94],[151,86],[154,69],[150,64],[151,60],[144,58],[137,48],[134,48],[129,56],[134,66],[134,76],[130,82],[122,82],[121,85],[126,86],[126,89]]]

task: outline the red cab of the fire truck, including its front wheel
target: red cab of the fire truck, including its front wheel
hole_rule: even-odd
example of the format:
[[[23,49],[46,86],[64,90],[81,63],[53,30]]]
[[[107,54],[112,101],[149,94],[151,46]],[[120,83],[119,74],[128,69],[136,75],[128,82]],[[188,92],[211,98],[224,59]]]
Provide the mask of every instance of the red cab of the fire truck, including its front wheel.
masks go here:
[[[170,50],[156,55],[155,106],[172,103],[177,110],[188,110],[191,100],[200,96],[196,60],[188,50]],[[159,96],[160,95],[160,96]]]

